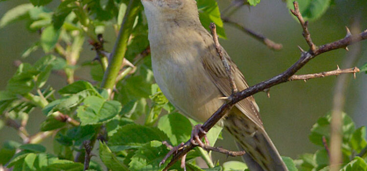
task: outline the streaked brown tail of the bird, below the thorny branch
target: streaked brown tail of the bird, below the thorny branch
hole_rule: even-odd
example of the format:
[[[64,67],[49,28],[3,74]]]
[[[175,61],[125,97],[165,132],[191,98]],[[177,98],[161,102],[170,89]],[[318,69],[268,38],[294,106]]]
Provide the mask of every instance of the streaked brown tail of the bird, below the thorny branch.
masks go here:
[[[279,152],[263,127],[254,124],[239,110],[232,110],[224,122],[225,128],[236,139],[250,171],[288,171]]]

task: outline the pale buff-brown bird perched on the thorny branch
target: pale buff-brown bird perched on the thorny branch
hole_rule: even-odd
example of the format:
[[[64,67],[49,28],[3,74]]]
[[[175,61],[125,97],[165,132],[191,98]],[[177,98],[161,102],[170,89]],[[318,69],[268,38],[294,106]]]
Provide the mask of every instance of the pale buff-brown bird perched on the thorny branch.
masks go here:
[[[196,0],[141,0],[156,83],[184,115],[205,122],[226,101],[232,88],[212,35],[199,19]],[[249,87],[223,49],[238,89]],[[266,133],[252,96],[238,102],[218,122],[234,137],[250,171],[288,171]]]

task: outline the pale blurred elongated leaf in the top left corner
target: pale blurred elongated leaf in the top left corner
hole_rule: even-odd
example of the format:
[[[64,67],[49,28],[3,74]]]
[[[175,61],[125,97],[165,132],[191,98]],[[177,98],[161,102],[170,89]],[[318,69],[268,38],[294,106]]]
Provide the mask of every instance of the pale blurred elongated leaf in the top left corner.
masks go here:
[[[7,11],[0,20],[0,28],[8,25],[9,23],[23,20],[28,16],[28,11],[33,7],[34,6],[31,3],[24,3]]]

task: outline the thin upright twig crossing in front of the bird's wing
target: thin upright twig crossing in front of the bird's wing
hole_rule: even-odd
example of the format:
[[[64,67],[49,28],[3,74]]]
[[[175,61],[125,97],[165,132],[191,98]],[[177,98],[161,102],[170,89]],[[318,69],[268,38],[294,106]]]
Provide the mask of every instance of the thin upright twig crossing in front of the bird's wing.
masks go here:
[[[218,53],[219,57],[221,58],[224,67],[226,68],[229,83],[230,83],[230,87],[232,88],[232,95],[233,95],[234,93],[236,93],[238,91],[238,89],[237,89],[236,83],[234,82],[233,75],[231,73],[231,67],[228,64],[228,61],[227,61],[226,57],[223,56],[222,46],[219,44],[218,35],[217,35],[217,31],[216,31],[216,26],[213,22],[210,23],[210,31],[211,31],[211,35],[213,36],[215,49],[217,50],[217,53]]]

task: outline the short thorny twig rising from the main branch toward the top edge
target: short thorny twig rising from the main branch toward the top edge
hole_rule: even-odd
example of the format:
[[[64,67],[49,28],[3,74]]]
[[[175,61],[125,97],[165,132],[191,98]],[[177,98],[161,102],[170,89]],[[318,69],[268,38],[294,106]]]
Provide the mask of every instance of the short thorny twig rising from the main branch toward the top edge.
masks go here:
[[[299,23],[301,24],[302,29],[303,29],[302,35],[303,35],[304,39],[306,40],[308,46],[310,46],[311,53],[314,53],[316,51],[316,45],[311,40],[311,35],[310,35],[310,32],[308,31],[308,28],[307,28],[308,27],[308,21],[303,20],[303,17],[301,15],[301,13],[299,12],[298,2],[294,1],[293,5],[294,5],[295,9],[294,10],[291,9],[291,12],[294,16],[297,17]]]

